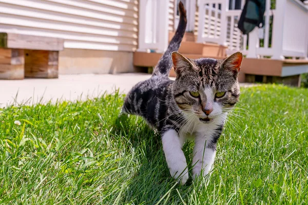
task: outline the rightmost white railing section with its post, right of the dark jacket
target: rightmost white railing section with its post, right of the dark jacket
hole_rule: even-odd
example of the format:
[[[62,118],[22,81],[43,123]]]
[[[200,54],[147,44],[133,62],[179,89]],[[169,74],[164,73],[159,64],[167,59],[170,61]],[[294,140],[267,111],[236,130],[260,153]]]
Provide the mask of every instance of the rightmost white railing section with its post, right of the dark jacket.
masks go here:
[[[308,50],[308,9],[298,0],[276,1],[276,9],[270,10],[270,1],[266,1],[264,46],[259,48],[256,28],[249,33],[247,57],[271,56],[272,59],[285,57],[307,58]],[[269,36],[269,18],[273,16],[272,36]],[[272,45],[269,46],[269,39]]]

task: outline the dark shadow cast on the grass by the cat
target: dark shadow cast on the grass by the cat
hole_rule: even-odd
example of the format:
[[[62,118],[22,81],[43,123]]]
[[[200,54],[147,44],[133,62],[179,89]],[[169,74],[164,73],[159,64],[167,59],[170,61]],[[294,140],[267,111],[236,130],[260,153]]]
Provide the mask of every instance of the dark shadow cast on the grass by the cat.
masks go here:
[[[171,198],[173,199],[164,198],[164,200],[180,202],[181,199],[176,189],[181,190],[181,197],[189,194],[192,190],[190,187],[191,177],[186,186],[176,185],[174,187],[176,181],[170,177],[162,150],[161,136],[145,125],[145,122],[140,120],[140,118],[132,122],[134,119],[134,117],[124,114],[113,122],[112,135],[119,136],[120,134],[127,136],[131,146],[128,146],[126,149],[139,149],[139,153],[142,155],[139,157],[141,159],[140,167],[136,174],[128,179],[128,187],[121,196],[121,202],[155,204],[162,197],[166,197],[164,195],[168,192],[171,193]],[[184,147],[185,150],[189,150],[187,148],[186,146]],[[191,161],[187,162],[191,164]]]

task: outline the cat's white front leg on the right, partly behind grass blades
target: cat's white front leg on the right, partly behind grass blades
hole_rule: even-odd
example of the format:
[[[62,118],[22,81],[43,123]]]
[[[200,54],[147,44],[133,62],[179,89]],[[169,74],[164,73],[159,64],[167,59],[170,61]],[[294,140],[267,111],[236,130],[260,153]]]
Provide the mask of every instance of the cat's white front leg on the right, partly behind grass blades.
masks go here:
[[[196,136],[195,147],[192,159],[192,177],[195,179],[203,170],[203,176],[206,176],[212,169],[215,155],[216,144],[213,144],[205,136]]]

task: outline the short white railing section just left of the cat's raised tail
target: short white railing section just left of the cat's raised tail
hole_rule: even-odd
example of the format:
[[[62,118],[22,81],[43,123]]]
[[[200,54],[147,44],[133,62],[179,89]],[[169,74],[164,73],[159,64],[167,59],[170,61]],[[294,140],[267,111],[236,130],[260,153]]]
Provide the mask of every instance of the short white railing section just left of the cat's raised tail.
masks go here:
[[[139,49],[162,53],[168,47],[168,1],[140,0]]]

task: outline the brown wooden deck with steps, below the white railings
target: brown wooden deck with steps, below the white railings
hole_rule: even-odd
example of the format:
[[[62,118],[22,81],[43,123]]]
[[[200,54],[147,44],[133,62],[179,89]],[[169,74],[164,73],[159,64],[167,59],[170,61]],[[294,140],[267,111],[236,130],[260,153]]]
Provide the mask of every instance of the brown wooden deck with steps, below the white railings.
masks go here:
[[[174,33],[169,33],[171,40]],[[215,58],[226,57],[226,47],[217,44],[196,43],[196,36],[185,33],[179,52],[187,58]],[[133,65],[137,67],[154,67],[162,56],[161,53],[134,52]],[[271,58],[244,58],[240,75],[240,83],[283,83],[286,85],[299,86],[300,74],[308,73],[308,60],[285,59],[273,60]],[[170,75],[175,77],[174,69]]]

